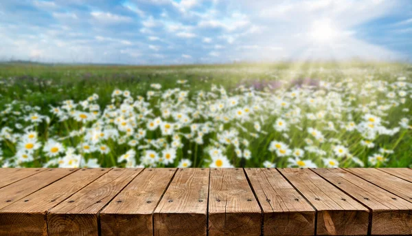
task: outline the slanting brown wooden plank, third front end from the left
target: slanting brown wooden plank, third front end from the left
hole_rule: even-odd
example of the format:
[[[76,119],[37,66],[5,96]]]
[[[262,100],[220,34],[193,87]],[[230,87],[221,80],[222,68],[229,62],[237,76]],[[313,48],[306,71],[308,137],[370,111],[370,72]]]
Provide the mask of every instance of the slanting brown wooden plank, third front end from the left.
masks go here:
[[[100,213],[102,235],[152,236],[152,214],[175,172],[154,168],[139,174]]]

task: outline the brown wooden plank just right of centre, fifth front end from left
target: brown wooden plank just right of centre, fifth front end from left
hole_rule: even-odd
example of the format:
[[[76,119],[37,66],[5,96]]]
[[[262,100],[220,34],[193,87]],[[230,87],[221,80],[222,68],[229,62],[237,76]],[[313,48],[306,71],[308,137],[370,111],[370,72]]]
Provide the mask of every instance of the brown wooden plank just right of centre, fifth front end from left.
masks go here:
[[[243,169],[211,169],[209,235],[260,235],[262,210]]]

